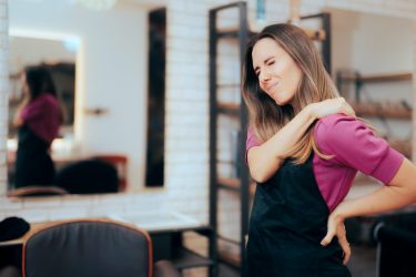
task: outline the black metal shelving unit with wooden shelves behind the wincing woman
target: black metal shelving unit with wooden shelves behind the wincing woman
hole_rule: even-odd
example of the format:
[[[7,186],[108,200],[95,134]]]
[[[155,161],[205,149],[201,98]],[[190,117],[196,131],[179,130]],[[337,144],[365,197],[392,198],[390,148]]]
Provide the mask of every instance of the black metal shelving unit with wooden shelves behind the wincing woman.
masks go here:
[[[217,28],[219,13],[236,9],[239,17],[236,19],[235,30],[221,30]],[[308,19],[322,20],[322,29],[310,31],[310,37],[313,40],[321,40],[322,44],[322,58],[328,72],[331,72],[331,16],[328,13],[318,13],[307,17],[302,17],[302,20]],[[223,239],[229,243],[239,244],[240,256],[233,258],[220,257],[222,261],[225,261],[233,266],[244,265],[241,263],[245,260],[245,242],[248,234],[248,217],[251,207],[251,196],[254,195],[255,187],[250,185],[252,179],[250,177],[248,168],[245,164],[245,137],[247,132],[247,111],[243,104],[243,100],[240,96],[240,103],[222,103],[219,101],[219,90],[224,86],[237,86],[236,84],[219,84],[217,76],[217,62],[219,62],[219,42],[223,39],[232,39],[236,41],[236,49],[240,57],[240,65],[244,61],[245,48],[251,35],[255,34],[250,31],[247,22],[247,4],[245,1],[240,1],[226,6],[221,6],[210,10],[210,225],[213,227],[214,238],[211,240],[212,245],[210,249],[213,253],[210,254],[215,260],[219,259],[217,252],[217,239]],[[324,39],[323,39],[324,38]],[[241,68],[241,66],[240,66]],[[241,95],[241,94],[240,94]],[[234,166],[236,168],[237,177],[224,178],[217,174],[217,164],[220,162],[217,157],[219,146],[219,116],[225,115],[233,117],[239,121],[239,150],[237,157]],[[254,188],[254,189],[253,189]],[[240,240],[234,242],[219,235],[217,224],[217,206],[219,206],[219,191],[225,189],[229,192],[235,192],[240,195],[241,202],[241,232]]]

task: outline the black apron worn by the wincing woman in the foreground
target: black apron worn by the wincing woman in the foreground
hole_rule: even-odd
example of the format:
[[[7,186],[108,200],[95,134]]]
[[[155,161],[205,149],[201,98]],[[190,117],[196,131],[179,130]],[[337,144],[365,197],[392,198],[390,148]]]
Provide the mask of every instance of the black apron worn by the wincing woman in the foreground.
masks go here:
[[[257,184],[250,219],[246,277],[347,277],[343,250],[327,230],[329,209],[313,172],[313,154],[302,165],[284,162]]]

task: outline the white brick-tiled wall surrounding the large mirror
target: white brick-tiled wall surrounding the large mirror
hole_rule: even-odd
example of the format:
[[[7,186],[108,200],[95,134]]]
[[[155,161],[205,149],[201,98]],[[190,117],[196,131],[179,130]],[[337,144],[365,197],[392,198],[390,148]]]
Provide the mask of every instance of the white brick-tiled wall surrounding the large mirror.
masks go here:
[[[166,68],[166,148],[165,187],[136,195],[110,195],[12,202],[0,196],[0,218],[11,215],[29,220],[109,213],[133,213],[142,209],[177,209],[207,222],[209,212],[209,17],[207,10],[230,1],[170,0],[168,2]],[[248,1],[251,27],[255,0]],[[325,7],[416,19],[413,0],[308,0],[302,14],[319,12]],[[288,1],[266,0],[267,21],[285,21]],[[0,195],[6,193],[7,101],[4,68],[7,50],[7,0],[0,0]],[[232,21],[226,18],[224,21]],[[229,22],[229,23],[230,23]],[[416,44],[416,24],[415,24]],[[416,49],[414,53],[416,69]],[[226,63],[226,61],[224,61]],[[226,66],[226,64],[223,64]],[[222,64],[219,64],[221,69]],[[233,65],[231,65],[233,68]],[[235,66],[234,66],[235,70]],[[235,72],[234,72],[235,73]],[[231,78],[235,78],[231,73]],[[416,75],[416,73],[415,73]],[[415,86],[416,86],[416,81]],[[416,98],[415,98],[416,99]],[[415,109],[416,110],[416,109]],[[416,123],[414,123],[416,130]],[[416,132],[416,131],[415,131]],[[414,135],[416,137],[416,133]],[[415,143],[414,143],[415,144]],[[416,153],[416,147],[414,147]],[[416,156],[416,155],[414,155]],[[222,194],[220,225],[226,236],[239,237],[239,201]],[[195,240],[192,240],[195,242]],[[237,249],[231,249],[235,252]],[[202,271],[190,271],[201,276]]]

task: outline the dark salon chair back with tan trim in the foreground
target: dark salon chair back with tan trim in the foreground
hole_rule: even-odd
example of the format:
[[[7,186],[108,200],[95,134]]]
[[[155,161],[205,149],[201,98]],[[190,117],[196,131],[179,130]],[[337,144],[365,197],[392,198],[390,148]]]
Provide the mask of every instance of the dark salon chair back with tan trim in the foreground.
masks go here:
[[[23,277],[179,277],[153,264],[145,230],[110,219],[68,220],[34,232],[23,244]]]

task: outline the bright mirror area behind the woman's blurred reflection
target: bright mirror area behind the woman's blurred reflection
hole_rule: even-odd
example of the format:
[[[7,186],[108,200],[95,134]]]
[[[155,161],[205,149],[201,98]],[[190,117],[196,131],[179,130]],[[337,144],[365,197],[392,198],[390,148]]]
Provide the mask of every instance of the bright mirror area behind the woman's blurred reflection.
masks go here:
[[[29,37],[32,35],[32,37]],[[75,61],[79,39],[42,38],[41,34],[10,34],[9,40],[9,138],[17,137],[12,119],[22,101],[21,75],[26,66],[40,65],[51,73],[64,121],[60,136],[73,133],[75,102]]]

